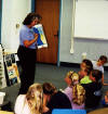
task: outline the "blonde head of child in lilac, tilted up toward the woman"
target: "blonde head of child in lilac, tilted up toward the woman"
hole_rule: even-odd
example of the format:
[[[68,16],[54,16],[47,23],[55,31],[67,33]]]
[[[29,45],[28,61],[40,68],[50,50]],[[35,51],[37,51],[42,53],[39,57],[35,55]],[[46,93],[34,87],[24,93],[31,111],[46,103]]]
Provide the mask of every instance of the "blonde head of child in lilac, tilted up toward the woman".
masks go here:
[[[65,81],[67,85],[76,85],[79,83],[79,75],[75,73],[73,71],[70,71],[66,74]]]

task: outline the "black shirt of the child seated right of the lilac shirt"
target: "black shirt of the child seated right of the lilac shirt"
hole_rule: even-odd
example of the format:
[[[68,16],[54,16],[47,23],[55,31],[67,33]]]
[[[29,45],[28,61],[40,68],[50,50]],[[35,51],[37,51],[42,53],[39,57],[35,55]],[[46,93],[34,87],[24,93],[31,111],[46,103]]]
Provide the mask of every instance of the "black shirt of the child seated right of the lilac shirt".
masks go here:
[[[95,107],[102,99],[102,83],[81,84],[85,89],[85,106]]]

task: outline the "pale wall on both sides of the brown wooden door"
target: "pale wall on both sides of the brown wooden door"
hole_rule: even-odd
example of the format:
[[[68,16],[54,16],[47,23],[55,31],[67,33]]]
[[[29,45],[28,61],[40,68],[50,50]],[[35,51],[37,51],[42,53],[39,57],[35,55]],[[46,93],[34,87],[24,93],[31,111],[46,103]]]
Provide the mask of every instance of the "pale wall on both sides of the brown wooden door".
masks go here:
[[[80,63],[82,53],[96,60],[100,54],[108,55],[108,41],[94,39],[73,39],[73,53],[70,53],[72,39],[72,0],[60,0],[60,33],[59,33],[59,62]],[[1,42],[5,49],[16,51],[18,47],[18,30],[26,14],[30,12],[31,0],[2,0],[2,31]]]

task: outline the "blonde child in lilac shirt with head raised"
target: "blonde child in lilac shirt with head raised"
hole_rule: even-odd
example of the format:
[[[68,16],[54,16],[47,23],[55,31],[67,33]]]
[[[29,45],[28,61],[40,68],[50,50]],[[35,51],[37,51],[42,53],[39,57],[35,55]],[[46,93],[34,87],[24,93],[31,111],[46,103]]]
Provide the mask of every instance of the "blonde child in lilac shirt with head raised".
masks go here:
[[[67,88],[64,93],[69,98],[72,109],[84,109],[85,90],[79,84],[79,75],[73,71],[67,73],[65,77]]]

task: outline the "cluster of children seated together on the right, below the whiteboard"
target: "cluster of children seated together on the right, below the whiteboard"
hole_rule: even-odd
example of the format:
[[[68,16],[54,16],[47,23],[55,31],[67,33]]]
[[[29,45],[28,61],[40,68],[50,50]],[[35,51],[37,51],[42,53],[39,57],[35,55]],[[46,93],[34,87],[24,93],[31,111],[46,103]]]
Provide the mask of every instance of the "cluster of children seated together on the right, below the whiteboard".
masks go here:
[[[67,73],[65,81],[68,87],[64,92],[68,96],[72,109],[91,111],[102,103],[102,87],[108,86],[104,83],[104,64],[107,61],[105,55],[100,55],[97,61],[84,59],[78,74],[71,71]],[[104,97],[103,105],[108,106],[108,91]]]

